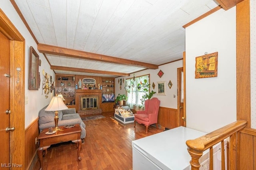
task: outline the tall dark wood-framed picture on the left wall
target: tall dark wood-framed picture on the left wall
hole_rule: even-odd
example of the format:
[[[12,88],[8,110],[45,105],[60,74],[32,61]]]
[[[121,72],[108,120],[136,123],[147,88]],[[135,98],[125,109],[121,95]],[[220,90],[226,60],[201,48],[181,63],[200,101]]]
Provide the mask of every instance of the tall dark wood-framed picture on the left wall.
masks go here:
[[[39,76],[39,55],[36,53],[35,49],[30,46],[29,48],[29,71],[28,71],[28,89],[38,90],[38,76]]]

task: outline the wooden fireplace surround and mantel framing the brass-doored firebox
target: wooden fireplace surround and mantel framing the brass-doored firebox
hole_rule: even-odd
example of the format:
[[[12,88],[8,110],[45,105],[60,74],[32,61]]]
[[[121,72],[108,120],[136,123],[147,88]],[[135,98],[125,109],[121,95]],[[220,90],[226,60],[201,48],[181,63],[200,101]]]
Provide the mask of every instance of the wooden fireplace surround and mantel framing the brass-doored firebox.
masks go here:
[[[99,109],[102,109],[102,90],[93,89],[77,89],[76,92],[76,111],[81,111],[80,109],[80,97],[81,96],[98,96]]]

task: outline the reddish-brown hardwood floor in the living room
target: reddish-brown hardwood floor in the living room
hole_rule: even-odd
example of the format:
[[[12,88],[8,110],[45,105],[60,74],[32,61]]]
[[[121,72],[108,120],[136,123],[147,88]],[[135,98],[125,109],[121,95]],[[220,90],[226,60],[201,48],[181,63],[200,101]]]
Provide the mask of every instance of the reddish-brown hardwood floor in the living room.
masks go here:
[[[78,161],[76,144],[64,142],[48,148],[43,158],[44,170],[132,170],[132,140],[162,132],[156,127],[134,124],[121,125],[103,113],[106,118],[85,121],[86,138]],[[38,170],[39,162],[33,167]]]

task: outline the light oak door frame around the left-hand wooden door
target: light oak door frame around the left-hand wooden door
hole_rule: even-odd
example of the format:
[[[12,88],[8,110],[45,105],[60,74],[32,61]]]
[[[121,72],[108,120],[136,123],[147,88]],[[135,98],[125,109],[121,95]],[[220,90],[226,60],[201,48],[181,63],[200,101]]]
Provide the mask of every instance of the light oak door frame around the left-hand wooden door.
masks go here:
[[[25,39],[0,9],[0,32],[10,40],[10,162],[24,165],[25,157]],[[16,68],[20,68],[17,71]]]

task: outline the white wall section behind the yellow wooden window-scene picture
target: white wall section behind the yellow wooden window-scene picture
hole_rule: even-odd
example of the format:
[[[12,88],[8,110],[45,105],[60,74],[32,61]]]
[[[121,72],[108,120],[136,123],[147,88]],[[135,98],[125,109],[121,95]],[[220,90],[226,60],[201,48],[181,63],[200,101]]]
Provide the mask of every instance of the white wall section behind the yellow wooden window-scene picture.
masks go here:
[[[218,77],[195,79],[195,57],[218,51]],[[236,121],[236,7],[186,28],[186,125],[211,132]]]

